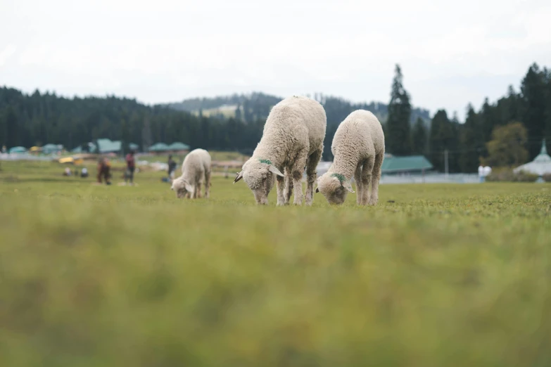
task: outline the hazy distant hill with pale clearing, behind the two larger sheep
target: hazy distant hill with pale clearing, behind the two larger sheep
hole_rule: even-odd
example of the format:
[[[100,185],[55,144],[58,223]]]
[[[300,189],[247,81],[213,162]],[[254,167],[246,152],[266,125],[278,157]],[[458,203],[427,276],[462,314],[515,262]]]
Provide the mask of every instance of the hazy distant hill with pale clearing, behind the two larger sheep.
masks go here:
[[[369,110],[376,115],[384,124],[388,117],[388,105],[381,102],[371,103],[352,103],[344,98],[335,96],[324,96],[315,94],[316,101],[322,103],[327,113],[327,124],[334,125],[343,121],[353,110]],[[271,96],[260,92],[252,94],[233,94],[232,96],[217,96],[214,98],[190,98],[182,102],[168,103],[167,106],[174,110],[191,112],[194,115],[217,117],[225,120],[234,117],[243,122],[253,122],[265,120],[270,109],[279,101],[281,97]],[[426,127],[429,127],[431,117],[429,110],[424,108],[413,108],[411,124],[421,117]]]

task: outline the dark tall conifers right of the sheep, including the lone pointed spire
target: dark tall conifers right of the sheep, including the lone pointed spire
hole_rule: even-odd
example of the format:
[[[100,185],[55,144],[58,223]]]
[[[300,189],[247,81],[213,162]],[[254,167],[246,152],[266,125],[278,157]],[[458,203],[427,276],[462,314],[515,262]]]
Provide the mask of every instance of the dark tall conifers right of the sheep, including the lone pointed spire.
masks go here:
[[[551,143],[551,70],[542,69],[536,63],[528,68],[519,92],[509,86],[506,96],[495,103],[486,98],[478,111],[469,103],[464,123],[455,115],[450,117],[445,110],[438,110],[428,129],[422,120],[411,127],[407,123],[411,113],[410,96],[404,89],[399,65],[396,65],[391,90],[385,126],[386,150],[395,155],[426,155],[441,172],[445,152],[448,152],[449,172],[476,172],[481,162],[507,165],[524,163],[520,157],[533,160],[544,138],[547,144]],[[509,141],[496,141],[505,136]],[[504,144],[508,144],[511,151],[526,149],[526,157],[521,153],[515,155],[517,160],[490,157],[496,145]]]

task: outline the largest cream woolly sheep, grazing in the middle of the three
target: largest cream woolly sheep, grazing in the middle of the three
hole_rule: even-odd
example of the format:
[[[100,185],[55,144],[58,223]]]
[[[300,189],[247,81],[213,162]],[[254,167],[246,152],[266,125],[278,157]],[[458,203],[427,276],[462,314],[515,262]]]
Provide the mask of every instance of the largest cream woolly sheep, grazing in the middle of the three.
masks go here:
[[[322,157],[327,117],[317,101],[304,96],[285,98],[268,115],[262,138],[243,164],[234,184],[244,179],[258,205],[267,205],[277,177],[277,205],[302,205],[302,178],[306,169],[306,205],[312,205],[316,166]],[[285,172],[285,175],[281,172]]]

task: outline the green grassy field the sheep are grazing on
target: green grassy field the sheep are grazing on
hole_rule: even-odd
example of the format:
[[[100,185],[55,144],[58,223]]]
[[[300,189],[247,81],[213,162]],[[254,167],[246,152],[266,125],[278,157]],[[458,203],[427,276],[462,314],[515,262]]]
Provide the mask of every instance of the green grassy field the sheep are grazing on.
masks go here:
[[[550,184],[258,207],[61,172],[1,162],[0,366],[551,365]]]

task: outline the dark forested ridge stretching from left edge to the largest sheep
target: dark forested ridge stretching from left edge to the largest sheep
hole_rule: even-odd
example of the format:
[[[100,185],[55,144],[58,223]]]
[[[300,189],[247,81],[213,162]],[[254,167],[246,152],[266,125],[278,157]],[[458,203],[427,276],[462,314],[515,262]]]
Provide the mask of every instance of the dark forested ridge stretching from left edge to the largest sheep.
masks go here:
[[[107,138],[147,148],[153,143],[182,141],[191,148],[251,153],[264,122],[193,115],[165,105],[147,106],[134,99],[63,98],[35,91],[0,89],[0,143],[9,147],[63,144],[72,149]]]

